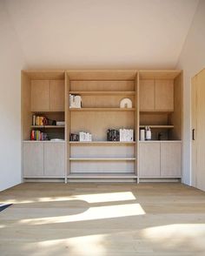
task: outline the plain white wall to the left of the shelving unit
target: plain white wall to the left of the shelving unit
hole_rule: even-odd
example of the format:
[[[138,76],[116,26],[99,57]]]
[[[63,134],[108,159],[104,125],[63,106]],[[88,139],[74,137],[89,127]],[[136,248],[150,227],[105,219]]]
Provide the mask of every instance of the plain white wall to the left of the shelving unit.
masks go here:
[[[0,1],[0,191],[21,183],[21,69],[23,54]]]

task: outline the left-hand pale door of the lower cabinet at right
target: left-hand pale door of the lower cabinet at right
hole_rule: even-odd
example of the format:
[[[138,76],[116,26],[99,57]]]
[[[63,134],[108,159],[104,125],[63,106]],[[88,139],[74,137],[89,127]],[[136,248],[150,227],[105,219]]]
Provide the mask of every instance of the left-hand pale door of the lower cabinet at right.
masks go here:
[[[140,143],[140,177],[160,177],[160,142]]]

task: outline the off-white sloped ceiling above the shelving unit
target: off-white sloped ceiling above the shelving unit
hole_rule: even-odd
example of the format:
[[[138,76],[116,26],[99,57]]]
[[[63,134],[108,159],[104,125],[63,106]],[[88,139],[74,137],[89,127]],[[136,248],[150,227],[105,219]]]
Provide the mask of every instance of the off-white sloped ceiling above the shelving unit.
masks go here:
[[[5,0],[28,68],[175,68],[198,0]]]

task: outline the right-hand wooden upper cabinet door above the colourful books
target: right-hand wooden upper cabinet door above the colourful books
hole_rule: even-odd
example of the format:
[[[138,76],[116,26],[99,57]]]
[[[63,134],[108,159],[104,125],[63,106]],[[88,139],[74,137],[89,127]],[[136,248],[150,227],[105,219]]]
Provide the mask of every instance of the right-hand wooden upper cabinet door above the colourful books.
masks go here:
[[[64,81],[50,81],[50,111],[64,111]]]

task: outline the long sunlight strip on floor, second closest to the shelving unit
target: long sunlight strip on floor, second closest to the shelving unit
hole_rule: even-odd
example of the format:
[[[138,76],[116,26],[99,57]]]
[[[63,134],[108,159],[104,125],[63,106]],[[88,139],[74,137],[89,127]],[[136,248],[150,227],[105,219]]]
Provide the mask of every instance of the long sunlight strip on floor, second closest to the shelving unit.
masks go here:
[[[108,205],[91,207],[87,211],[75,215],[48,217],[38,219],[22,219],[19,222],[30,225],[43,225],[51,223],[66,223],[73,221],[94,220],[94,219],[109,219],[142,215],[145,212],[139,204],[126,205]]]

